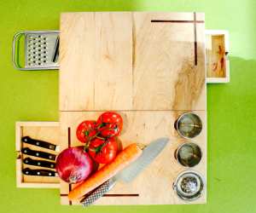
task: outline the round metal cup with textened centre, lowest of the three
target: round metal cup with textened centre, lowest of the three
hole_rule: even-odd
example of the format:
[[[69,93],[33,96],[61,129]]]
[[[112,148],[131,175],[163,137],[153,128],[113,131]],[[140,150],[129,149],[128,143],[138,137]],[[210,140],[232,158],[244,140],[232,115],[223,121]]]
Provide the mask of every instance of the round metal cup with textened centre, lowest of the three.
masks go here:
[[[173,184],[173,189],[176,191],[180,199],[193,201],[201,196],[204,184],[201,175],[195,171],[183,171],[177,176]]]

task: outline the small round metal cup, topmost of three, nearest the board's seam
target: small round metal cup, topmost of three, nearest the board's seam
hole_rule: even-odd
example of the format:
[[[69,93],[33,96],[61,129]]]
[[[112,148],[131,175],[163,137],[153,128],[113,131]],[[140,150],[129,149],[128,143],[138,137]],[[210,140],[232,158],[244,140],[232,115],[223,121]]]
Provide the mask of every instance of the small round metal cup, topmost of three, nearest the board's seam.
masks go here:
[[[193,112],[186,112],[177,118],[174,127],[178,135],[186,139],[191,139],[201,133],[201,118]]]

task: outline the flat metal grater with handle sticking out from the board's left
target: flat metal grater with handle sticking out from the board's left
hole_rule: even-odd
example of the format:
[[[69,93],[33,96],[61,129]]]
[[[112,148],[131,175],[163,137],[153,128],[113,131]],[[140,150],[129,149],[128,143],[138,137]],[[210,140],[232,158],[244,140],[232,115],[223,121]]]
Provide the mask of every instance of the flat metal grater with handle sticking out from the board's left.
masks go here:
[[[18,62],[16,43],[25,37],[25,66]],[[13,41],[13,63],[18,70],[58,69],[59,31],[18,32]]]

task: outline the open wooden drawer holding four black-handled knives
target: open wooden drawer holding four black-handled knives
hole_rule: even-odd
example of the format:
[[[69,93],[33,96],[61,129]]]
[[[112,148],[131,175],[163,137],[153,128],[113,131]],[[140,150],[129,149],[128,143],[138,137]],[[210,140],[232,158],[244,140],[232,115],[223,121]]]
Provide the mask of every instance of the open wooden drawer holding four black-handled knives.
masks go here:
[[[34,188],[58,188],[60,187],[59,177],[55,176],[24,176],[22,169],[29,167],[30,169],[39,169],[36,166],[23,164],[26,155],[21,153],[23,147],[29,147],[34,150],[44,151],[47,153],[56,152],[30,144],[23,143],[21,138],[29,135],[30,137],[42,141],[49,141],[55,145],[59,143],[59,123],[58,122],[16,122],[15,132],[15,150],[16,158],[16,184],[17,187],[34,187]],[[29,157],[37,159],[36,157]]]

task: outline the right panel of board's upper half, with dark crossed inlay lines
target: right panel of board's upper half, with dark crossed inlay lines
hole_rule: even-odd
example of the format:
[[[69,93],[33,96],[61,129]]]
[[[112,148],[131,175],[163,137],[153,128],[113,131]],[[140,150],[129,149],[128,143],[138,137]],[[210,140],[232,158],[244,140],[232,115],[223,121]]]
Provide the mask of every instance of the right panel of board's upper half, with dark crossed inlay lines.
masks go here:
[[[183,20],[191,20],[192,14]],[[133,109],[205,110],[204,24],[199,34],[195,66],[195,25],[152,23],[174,20],[174,14],[134,13]],[[201,72],[202,71],[202,72]]]

